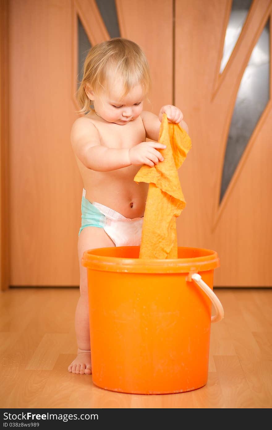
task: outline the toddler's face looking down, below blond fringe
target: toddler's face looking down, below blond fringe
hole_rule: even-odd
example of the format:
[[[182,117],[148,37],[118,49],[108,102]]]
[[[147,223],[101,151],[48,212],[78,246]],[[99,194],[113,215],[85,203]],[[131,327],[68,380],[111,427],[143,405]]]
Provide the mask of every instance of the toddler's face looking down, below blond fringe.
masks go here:
[[[135,120],[143,110],[144,94],[141,85],[134,86],[128,94],[120,100],[123,88],[120,82],[110,87],[108,93],[95,97],[94,108],[96,114],[108,123],[125,126]]]

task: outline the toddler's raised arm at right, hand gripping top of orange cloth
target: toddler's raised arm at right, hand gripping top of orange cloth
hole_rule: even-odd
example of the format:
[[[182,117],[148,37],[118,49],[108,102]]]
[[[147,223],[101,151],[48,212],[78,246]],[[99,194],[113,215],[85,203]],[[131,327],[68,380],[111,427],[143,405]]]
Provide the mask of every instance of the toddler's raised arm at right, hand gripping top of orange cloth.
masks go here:
[[[161,120],[162,120],[163,112],[166,111],[168,121],[171,122],[174,120],[174,113],[176,110],[179,111],[179,109],[175,106],[171,106],[171,105],[162,106],[162,108],[159,112],[159,117],[157,117],[157,115],[154,115],[152,112],[143,111],[141,113],[141,118],[143,120],[143,124],[144,124],[147,138],[158,141],[159,129],[161,126]],[[171,111],[173,111],[172,112],[173,117],[171,116]],[[181,112],[180,112],[180,114],[181,114],[181,118],[183,118],[183,115]],[[175,122],[175,121],[173,121],[173,122]],[[189,133],[189,129],[188,129],[188,126],[187,126],[185,121],[180,120],[179,124],[180,124],[181,128],[183,128],[187,133]]]

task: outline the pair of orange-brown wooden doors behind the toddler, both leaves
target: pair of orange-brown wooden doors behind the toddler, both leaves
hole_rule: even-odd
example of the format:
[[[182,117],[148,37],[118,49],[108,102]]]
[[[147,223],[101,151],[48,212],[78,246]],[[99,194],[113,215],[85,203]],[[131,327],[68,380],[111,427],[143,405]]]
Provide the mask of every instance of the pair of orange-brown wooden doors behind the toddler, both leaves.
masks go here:
[[[231,0],[116,0],[108,6],[95,0],[8,3],[10,285],[79,285],[83,184],[70,129],[79,108],[80,20],[91,46],[116,35],[114,21],[121,37],[144,49],[153,80],[152,105],[145,109],[158,114],[163,104],[175,104],[184,113],[193,148],[179,172],[187,206],[177,220],[178,244],[218,252],[215,286],[271,286],[270,98],[220,202],[239,83],[271,0],[253,1],[222,74]]]

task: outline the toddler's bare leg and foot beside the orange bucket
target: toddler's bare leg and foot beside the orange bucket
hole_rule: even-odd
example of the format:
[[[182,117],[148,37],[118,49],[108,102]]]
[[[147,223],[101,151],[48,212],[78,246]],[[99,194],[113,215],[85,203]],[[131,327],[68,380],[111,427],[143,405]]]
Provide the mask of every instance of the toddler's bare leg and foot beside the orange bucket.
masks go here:
[[[89,302],[88,302],[88,282],[87,269],[81,265],[84,251],[93,248],[107,248],[115,246],[103,228],[85,227],[79,234],[78,258],[80,270],[80,297],[76,306],[75,329],[77,339],[77,356],[68,367],[72,373],[92,373],[91,353],[90,353],[90,327],[89,327]]]

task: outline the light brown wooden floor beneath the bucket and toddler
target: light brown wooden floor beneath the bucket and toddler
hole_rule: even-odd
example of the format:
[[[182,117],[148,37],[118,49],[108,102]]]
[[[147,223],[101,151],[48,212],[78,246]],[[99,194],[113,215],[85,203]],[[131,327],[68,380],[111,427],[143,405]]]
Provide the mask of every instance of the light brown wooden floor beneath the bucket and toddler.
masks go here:
[[[0,293],[1,408],[271,408],[272,289],[215,289],[225,310],[211,326],[208,383],[167,395],[96,387],[67,372],[76,352],[78,289]]]

